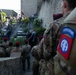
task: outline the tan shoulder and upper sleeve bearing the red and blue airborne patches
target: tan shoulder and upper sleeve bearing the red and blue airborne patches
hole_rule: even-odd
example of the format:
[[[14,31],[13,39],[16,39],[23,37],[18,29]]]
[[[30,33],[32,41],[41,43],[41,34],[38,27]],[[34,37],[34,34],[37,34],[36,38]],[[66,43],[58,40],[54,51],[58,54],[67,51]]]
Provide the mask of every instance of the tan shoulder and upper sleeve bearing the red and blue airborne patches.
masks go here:
[[[61,60],[72,68],[76,68],[76,8],[64,20],[57,47]]]

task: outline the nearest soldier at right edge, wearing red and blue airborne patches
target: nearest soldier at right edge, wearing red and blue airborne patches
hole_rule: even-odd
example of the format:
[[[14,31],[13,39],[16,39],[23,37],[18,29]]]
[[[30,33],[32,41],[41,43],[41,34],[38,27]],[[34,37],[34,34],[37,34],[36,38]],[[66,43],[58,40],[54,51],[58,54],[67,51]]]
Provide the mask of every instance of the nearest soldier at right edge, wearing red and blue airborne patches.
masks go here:
[[[64,27],[62,28],[57,55],[55,56],[55,72],[58,68],[61,69],[63,75],[76,75],[76,7],[64,20]],[[72,34],[73,33],[73,34]],[[56,64],[57,62],[57,64]],[[58,70],[56,75],[58,75]]]

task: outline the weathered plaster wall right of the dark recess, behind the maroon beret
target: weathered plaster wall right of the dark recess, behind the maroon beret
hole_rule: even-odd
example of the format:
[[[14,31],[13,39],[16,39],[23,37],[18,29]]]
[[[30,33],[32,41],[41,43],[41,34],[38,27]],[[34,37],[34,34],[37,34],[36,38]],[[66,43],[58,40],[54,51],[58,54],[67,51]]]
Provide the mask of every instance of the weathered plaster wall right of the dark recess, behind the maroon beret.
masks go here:
[[[61,13],[62,0],[50,0],[50,2],[43,2],[39,13],[39,19],[43,20],[42,26],[47,28],[53,22],[53,14]]]

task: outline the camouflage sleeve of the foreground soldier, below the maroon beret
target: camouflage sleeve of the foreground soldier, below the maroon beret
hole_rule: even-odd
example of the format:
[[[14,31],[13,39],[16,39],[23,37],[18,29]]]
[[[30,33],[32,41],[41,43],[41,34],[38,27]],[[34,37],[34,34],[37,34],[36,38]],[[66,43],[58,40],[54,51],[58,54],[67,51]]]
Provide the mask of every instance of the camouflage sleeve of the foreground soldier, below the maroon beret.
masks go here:
[[[50,59],[53,51],[53,37],[57,31],[57,23],[53,22],[50,24],[49,28],[44,32],[44,42],[43,42],[43,55],[44,58]]]

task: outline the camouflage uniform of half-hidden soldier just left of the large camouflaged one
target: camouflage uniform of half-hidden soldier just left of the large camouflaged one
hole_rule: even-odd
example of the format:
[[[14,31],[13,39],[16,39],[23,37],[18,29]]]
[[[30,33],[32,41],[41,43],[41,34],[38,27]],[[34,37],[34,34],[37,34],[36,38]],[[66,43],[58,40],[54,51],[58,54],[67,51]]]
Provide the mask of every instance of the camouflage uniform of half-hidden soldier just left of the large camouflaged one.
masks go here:
[[[39,75],[39,55],[38,45],[32,48],[32,56],[35,58],[32,65],[33,75]]]

